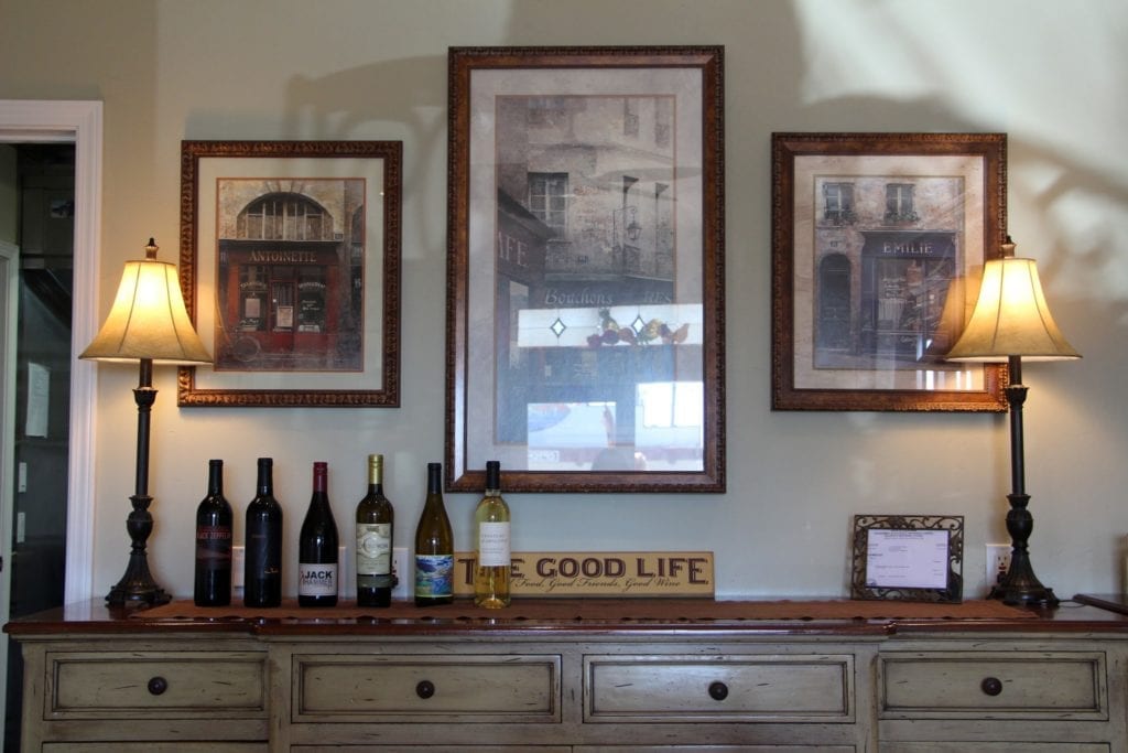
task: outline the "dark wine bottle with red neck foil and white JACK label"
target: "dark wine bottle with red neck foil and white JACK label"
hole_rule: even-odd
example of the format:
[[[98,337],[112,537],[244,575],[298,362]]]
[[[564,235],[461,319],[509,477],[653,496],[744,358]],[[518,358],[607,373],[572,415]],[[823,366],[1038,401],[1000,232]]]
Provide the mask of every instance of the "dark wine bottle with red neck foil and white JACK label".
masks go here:
[[[314,496],[298,539],[298,606],[337,604],[337,524],[329,508],[328,475],[328,463],[314,463]]]

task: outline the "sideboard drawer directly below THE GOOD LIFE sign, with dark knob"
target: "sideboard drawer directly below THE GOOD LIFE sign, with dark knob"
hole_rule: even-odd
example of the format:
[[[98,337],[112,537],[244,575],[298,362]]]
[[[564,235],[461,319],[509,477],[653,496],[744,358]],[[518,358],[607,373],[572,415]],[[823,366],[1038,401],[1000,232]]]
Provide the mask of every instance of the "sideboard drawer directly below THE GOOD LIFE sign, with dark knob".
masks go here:
[[[587,721],[853,721],[854,657],[584,658]]]

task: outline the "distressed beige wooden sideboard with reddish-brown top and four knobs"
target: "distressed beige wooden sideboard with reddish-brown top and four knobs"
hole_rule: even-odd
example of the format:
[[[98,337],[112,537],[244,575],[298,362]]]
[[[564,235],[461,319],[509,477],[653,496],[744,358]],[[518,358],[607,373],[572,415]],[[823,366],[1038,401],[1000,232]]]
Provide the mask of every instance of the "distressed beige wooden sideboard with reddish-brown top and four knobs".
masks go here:
[[[742,604],[609,618],[556,602],[567,619],[81,604],[6,630],[25,657],[24,751],[1128,750],[1122,615],[734,618]]]

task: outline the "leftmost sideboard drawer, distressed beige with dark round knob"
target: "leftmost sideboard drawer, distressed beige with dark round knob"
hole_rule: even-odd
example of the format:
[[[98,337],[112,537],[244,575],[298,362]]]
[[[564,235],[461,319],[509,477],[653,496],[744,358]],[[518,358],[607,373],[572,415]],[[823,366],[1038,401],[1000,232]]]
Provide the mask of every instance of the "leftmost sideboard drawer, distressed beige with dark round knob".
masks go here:
[[[47,653],[44,718],[265,716],[265,653]]]

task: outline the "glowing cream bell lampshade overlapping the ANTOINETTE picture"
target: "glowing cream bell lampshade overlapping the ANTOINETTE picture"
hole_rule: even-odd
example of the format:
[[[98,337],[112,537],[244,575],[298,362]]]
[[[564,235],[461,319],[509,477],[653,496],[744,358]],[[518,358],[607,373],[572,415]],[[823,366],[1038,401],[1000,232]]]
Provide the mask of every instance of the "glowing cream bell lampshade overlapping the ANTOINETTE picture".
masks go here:
[[[102,361],[210,364],[192,327],[176,265],[157,261],[152,239],[143,261],[125,262],[114,307],[79,358]]]

